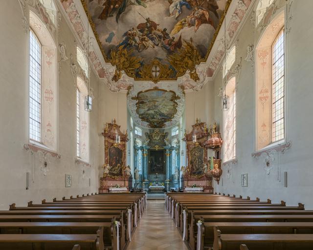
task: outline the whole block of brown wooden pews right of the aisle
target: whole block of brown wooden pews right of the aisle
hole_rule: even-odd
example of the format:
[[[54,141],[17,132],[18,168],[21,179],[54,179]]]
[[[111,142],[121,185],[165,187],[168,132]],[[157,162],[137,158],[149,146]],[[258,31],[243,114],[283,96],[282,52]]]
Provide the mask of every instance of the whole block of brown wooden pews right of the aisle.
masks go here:
[[[301,203],[287,207],[269,199],[167,193],[165,206],[191,250],[313,249],[313,210]]]

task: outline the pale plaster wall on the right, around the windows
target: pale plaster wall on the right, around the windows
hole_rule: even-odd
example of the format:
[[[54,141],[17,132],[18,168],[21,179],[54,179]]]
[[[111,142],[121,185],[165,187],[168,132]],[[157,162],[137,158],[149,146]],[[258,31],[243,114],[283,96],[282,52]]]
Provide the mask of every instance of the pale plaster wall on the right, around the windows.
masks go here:
[[[243,58],[238,77],[236,158],[237,164],[222,167],[224,173],[220,185],[214,182],[215,191],[271,199],[272,203],[287,202],[297,206],[298,202],[313,208],[312,171],[312,63],[313,63],[313,1],[294,0],[290,22],[291,31],[287,36],[287,140],[292,146],[284,154],[275,154],[273,168],[267,175],[264,159],[251,157],[255,151],[255,77],[251,62],[246,62],[246,47],[254,42],[250,17],[238,35],[237,56]],[[222,124],[220,98],[217,97],[222,76],[215,77],[215,119]],[[223,129],[220,129],[223,131]],[[284,172],[288,172],[288,187],[284,187]],[[241,174],[248,173],[248,187],[241,187]]]

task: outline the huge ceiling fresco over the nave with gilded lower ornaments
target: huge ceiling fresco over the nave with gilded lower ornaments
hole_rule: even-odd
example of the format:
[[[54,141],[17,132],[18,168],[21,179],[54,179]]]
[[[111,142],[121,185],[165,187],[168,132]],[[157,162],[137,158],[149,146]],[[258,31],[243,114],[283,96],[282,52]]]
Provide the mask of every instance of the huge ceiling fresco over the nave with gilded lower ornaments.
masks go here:
[[[134,80],[159,82],[188,74],[199,81],[224,19],[224,0],[81,0],[106,62]],[[226,9],[231,0],[227,0]]]

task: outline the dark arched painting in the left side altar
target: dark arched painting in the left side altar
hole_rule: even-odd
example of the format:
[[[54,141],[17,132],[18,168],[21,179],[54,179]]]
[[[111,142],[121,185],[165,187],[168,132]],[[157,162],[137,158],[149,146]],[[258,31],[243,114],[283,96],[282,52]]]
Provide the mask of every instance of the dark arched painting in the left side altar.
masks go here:
[[[109,166],[111,167],[109,175],[114,177],[123,175],[123,151],[116,146],[109,148]]]

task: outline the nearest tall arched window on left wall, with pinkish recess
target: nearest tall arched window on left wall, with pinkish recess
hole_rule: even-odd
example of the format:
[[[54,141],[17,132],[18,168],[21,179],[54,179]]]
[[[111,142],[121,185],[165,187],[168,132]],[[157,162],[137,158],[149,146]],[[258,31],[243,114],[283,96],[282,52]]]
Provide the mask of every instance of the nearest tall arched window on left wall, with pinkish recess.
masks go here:
[[[56,151],[56,46],[29,12],[29,142]]]

